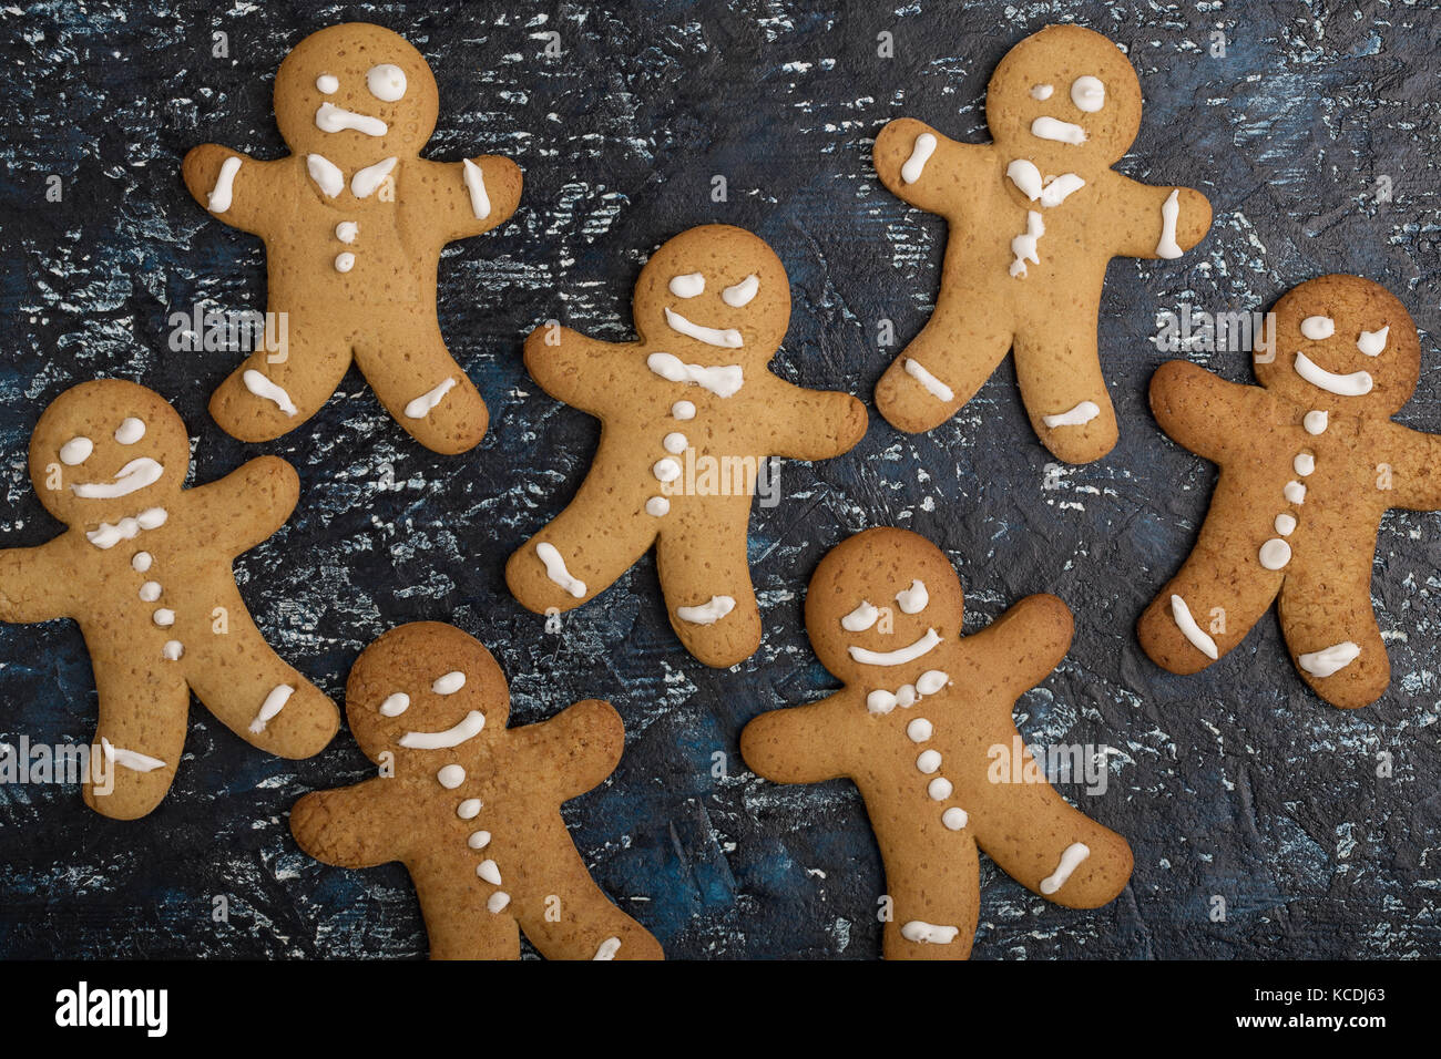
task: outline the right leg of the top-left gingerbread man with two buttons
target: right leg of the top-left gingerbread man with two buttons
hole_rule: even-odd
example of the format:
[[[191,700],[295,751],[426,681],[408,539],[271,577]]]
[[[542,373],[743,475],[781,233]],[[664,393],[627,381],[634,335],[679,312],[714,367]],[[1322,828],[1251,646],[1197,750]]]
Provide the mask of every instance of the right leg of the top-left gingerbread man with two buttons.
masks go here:
[[[486,402],[445,349],[434,314],[386,320],[356,343],[356,367],[406,434],[432,452],[465,452],[486,435]]]

